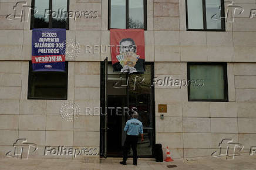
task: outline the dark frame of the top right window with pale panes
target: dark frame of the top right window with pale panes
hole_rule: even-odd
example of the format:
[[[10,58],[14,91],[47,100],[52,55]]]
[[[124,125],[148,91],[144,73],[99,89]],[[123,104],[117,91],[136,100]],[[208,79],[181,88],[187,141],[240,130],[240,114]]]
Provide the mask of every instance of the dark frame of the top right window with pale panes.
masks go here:
[[[188,6],[186,0],[186,27],[187,31],[216,31],[216,32],[225,32],[225,4],[224,0],[221,1],[221,29],[207,29],[207,20],[206,20],[206,0],[202,0],[203,3],[203,29],[190,29],[188,28]]]

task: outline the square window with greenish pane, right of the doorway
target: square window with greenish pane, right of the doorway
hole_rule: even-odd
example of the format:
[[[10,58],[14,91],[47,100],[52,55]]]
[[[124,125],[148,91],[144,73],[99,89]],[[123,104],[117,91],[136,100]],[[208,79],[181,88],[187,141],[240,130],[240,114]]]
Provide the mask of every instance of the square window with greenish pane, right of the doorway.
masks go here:
[[[228,101],[227,63],[188,63],[188,101]]]

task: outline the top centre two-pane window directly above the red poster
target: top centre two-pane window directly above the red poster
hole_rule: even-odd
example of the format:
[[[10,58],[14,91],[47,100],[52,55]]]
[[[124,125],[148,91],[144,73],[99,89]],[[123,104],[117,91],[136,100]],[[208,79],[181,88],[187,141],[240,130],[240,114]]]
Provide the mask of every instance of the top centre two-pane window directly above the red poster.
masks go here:
[[[109,0],[109,29],[147,29],[147,0]]]

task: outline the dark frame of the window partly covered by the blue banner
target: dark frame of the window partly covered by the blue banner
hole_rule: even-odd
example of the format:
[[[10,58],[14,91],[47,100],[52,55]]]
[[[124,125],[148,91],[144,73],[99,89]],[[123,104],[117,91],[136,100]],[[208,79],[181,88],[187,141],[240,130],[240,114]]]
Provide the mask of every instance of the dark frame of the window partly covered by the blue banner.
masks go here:
[[[69,74],[69,70],[68,70],[68,62],[65,62],[65,72],[66,72],[66,97],[65,98],[38,98],[38,97],[30,97],[29,94],[31,91],[31,79],[32,79],[32,62],[29,61],[29,71],[28,71],[28,95],[27,98],[28,100],[68,100],[68,74]],[[51,72],[54,73],[54,72]]]

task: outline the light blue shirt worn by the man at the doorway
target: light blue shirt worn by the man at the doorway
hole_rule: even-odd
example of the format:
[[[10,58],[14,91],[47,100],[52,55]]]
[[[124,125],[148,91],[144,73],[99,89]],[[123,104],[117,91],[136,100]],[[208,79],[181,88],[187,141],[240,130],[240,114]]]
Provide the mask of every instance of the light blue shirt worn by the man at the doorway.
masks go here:
[[[126,122],[126,125],[123,129],[127,131],[127,135],[139,135],[143,134],[142,122],[136,118],[132,118]]]

